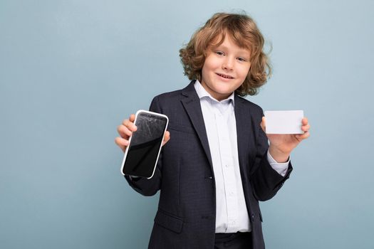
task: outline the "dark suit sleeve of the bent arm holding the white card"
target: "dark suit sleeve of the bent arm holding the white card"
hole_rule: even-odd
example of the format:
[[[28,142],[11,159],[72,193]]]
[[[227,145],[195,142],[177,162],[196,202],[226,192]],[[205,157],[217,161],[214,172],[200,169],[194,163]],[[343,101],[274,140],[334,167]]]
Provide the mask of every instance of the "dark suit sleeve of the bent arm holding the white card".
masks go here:
[[[261,110],[261,117],[263,116],[264,113]],[[279,189],[281,189],[281,186],[283,186],[284,182],[289,179],[292,171],[292,165],[290,161],[289,168],[284,176],[281,176],[271,167],[267,159],[267,151],[269,149],[268,139],[260,126],[256,147],[257,152],[254,163],[254,171],[252,171],[251,174],[251,187],[257,200],[267,201],[275,196]]]

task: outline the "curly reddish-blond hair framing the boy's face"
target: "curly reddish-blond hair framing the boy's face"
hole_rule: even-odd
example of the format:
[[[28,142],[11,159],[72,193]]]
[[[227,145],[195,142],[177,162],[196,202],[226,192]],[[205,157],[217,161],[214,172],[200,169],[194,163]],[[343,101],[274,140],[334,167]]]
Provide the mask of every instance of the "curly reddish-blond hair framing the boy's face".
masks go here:
[[[189,43],[180,49],[180,58],[189,80],[202,80],[202,66],[209,46],[212,41],[218,41],[219,46],[225,36],[232,38],[232,41],[241,48],[246,48],[251,53],[248,75],[241,86],[235,90],[240,96],[256,95],[259,87],[266,83],[271,75],[269,58],[264,53],[264,37],[254,20],[246,14],[217,13],[209,18],[204,26],[199,28],[192,36]]]

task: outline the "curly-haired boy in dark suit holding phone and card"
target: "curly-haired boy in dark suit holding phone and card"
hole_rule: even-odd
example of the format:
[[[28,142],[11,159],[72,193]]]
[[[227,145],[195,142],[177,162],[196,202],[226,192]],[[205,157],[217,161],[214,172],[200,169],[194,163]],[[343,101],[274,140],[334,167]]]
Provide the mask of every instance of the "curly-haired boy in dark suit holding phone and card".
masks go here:
[[[145,196],[160,190],[149,248],[264,248],[259,201],[289,178],[289,155],[309,136],[264,133],[254,95],[270,68],[264,38],[243,14],[214,14],[180,50],[184,89],[152,100],[169,117],[169,131],[152,179],[125,176]],[[118,127],[125,150],[135,116]],[[269,139],[269,144],[268,144]]]

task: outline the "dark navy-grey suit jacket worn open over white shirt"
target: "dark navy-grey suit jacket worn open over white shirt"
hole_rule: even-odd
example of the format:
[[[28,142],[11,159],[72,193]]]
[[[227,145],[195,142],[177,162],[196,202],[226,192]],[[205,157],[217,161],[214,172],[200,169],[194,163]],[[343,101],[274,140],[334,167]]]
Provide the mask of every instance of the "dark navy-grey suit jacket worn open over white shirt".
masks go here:
[[[160,190],[149,248],[212,249],[216,220],[215,181],[207,133],[194,81],[186,88],[158,95],[150,110],[169,117],[170,141],[162,147],[152,179],[130,179],[145,196]],[[251,220],[253,248],[264,248],[259,201],[266,201],[289,178],[282,177],[266,157],[269,147],[260,127],[261,107],[235,96],[241,181]]]

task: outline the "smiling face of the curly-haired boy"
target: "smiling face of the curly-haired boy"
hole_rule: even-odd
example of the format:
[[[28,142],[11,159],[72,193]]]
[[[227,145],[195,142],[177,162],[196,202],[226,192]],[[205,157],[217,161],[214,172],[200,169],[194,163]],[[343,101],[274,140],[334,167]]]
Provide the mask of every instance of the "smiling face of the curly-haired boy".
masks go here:
[[[208,48],[202,67],[202,86],[216,100],[224,100],[246,79],[249,50],[239,48],[227,35],[218,47]]]

